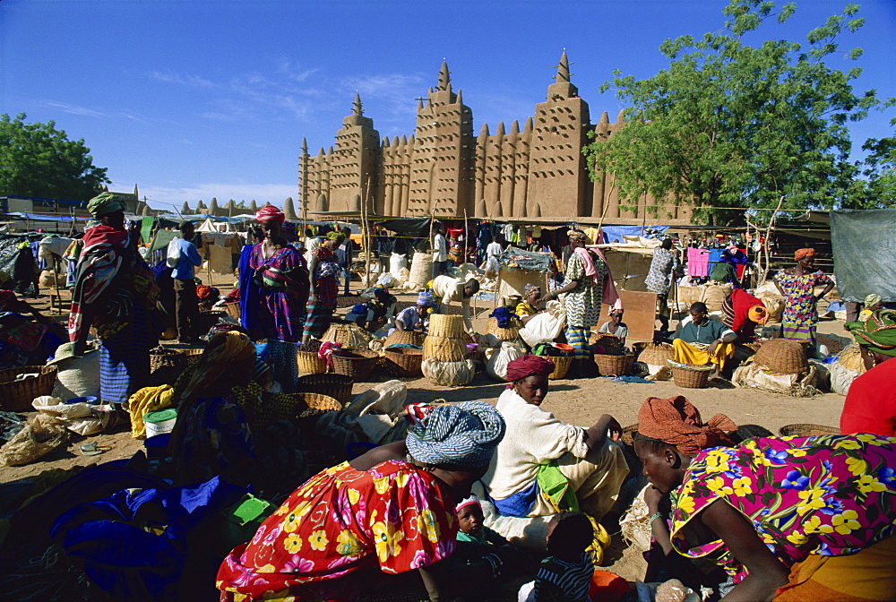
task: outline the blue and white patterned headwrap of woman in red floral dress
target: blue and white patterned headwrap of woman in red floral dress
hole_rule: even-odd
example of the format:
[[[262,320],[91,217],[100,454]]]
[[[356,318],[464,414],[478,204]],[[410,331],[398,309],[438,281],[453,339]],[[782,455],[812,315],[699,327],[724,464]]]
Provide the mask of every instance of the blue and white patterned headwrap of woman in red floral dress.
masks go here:
[[[504,438],[504,418],[485,401],[439,406],[408,429],[408,452],[425,464],[485,466]]]

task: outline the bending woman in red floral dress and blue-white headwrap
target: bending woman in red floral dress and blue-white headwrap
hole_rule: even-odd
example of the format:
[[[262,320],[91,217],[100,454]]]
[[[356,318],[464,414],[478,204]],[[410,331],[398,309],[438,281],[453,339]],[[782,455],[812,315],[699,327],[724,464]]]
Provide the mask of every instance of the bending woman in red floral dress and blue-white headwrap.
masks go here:
[[[465,401],[433,409],[405,441],[323,470],[224,559],[222,599],[350,600],[362,591],[413,590],[417,597],[407,599],[439,599],[450,585],[494,577],[496,556],[462,574],[456,565],[446,572],[443,561],[456,545],[454,507],[502,437],[494,408]]]

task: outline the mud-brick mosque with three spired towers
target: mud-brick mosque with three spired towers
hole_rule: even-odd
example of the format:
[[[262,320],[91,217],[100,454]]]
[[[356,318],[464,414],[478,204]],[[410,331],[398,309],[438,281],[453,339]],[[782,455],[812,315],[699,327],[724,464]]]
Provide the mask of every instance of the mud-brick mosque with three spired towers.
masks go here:
[[[645,219],[649,197],[620,203],[611,176],[588,176],[582,146],[606,139],[624,125],[622,113],[610,123],[604,112],[591,124],[588,103],[570,82],[569,60],[560,58],[547,98],[522,128],[495,133],[483,124],[473,134],[473,112],[453,90],[448,65],[442,64],[435,89],[418,99],[417,125],[409,137],[389,140],[374,129],[356,94],[351,115],[342,120],[336,145],[299,157],[299,207],[308,213],[367,211],[379,215],[491,219],[600,219],[635,224]],[[605,211],[606,203],[606,211]],[[620,205],[637,205],[625,211]],[[653,218],[647,214],[646,219]],[[659,211],[663,223],[688,224],[687,207]],[[655,221],[655,219],[653,219]]]

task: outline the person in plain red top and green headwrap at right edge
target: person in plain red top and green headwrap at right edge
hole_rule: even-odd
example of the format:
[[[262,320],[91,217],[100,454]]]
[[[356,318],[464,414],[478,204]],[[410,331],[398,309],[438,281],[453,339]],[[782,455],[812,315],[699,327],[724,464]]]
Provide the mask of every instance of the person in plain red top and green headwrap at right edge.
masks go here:
[[[867,372],[849,385],[840,414],[840,433],[896,436],[896,312],[881,309],[865,322],[847,323]]]

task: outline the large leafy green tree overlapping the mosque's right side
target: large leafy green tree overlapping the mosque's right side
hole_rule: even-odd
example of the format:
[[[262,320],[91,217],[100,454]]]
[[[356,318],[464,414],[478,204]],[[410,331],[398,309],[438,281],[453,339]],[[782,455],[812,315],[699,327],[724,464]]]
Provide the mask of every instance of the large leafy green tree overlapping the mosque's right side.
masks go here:
[[[669,59],[646,80],[614,73],[625,127],[583,149],[590,173],[615,173],[623,198],[694,204],[694,220],[721,225],[743,219],[727,208],[806,210],[843,202],[857,176],[849,162],[847,125],[879,103],[874,90],[853,91],[860,73],[832,69],[832,55],[857,59],[836,39],[861,27],[849,4],[806,35],[806,46],[745,39],[770,19],[786,22],[795,4],[731,0],[719,32],[667,39]],[[656,208],[653,208],[656,211]],[[762,211],[761,211],[762,212]],[[764,213],[764,212],[762,212]]]

